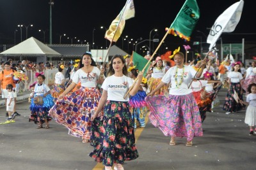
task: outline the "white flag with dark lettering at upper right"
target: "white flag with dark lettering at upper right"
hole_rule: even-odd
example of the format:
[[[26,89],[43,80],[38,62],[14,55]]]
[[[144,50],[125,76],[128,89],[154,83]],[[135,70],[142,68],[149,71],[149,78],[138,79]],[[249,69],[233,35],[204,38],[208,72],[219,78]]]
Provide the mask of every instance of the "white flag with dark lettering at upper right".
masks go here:
[[[234,3],[217,18],[207,37],[207,43],[211,44],[209,50],[212,50],[222,32],[232,32],[236,29],[242,15],[243,6],[243,0]]]

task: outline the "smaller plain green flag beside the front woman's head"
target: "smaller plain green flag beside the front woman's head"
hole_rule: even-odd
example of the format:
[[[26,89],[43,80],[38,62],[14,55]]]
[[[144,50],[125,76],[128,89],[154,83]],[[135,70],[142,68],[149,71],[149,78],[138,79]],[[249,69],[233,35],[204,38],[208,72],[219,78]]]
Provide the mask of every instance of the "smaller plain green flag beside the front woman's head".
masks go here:
[[[133,62],[133,66],[136,66],[135,68],[138,69],[139,71],[142,71],[143,68],[146,66],[148,60],[142,57],[140,54],[133,52],[133,55],[131,57],[131,60]],[[147,70],[150,64],[145,68],[143,76],[147,75]]]

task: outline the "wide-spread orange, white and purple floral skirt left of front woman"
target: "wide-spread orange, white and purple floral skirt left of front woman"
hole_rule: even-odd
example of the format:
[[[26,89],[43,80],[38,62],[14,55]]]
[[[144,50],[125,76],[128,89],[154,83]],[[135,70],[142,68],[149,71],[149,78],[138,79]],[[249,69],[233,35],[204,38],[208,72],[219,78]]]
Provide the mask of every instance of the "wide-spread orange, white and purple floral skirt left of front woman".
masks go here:
[[[90,139],[91,117],[97,110],[100,97],[96,88],[80,87],[76,92],[70,92],[63,99],[57,100],[49,111],[49,116],[67,127],[68,134]]]

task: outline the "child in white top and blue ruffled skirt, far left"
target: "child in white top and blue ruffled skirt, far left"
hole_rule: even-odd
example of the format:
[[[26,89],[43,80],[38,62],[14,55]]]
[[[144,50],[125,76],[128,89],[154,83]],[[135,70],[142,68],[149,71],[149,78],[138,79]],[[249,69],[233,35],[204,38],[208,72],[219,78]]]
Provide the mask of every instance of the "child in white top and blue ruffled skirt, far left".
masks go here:
[[[35,85],[35,94],[31,96],[30,110],[36,116],[39,122],[37,129],[43,128],[45,122],[45,129],[49,129],[49,121],[51,117],[48,116],[48,111],[54,105],[50,89],[45,85],[45,76],[41,73],[36,73],[37,83]]]

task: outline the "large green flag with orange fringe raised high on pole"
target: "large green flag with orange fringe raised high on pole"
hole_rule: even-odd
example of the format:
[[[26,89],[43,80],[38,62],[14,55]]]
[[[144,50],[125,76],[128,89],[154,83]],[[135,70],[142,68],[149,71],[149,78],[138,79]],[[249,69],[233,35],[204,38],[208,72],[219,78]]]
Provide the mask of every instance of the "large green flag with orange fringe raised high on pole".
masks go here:
[[[187,0],[170,26],[168,33],[189,41],[199,17],[200,10],[196,0]]]

